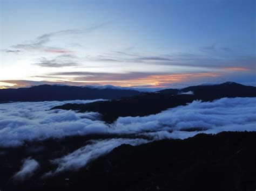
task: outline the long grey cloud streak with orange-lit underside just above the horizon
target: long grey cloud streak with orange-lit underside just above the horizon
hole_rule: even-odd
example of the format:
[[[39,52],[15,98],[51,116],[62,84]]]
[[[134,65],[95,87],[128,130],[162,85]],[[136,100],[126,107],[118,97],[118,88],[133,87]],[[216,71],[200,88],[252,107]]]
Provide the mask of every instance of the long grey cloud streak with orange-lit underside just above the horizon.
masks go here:
[[[97,72],[57,72],[33,77],[46,79],[45,81],[5,80],[1,82],[15,84],[16,87],[36,86],[39,84],[69,84],[73,86],[112,84],[122,87],[168,88],[197,84],[201,80],[209,81],[221,76],[217,72],[201,73],[97,73]],[[47,81],[50,79],[51,81]],[[65,79],[65,80],[64,80]],[[180,85],[181,84],[181,85]]]

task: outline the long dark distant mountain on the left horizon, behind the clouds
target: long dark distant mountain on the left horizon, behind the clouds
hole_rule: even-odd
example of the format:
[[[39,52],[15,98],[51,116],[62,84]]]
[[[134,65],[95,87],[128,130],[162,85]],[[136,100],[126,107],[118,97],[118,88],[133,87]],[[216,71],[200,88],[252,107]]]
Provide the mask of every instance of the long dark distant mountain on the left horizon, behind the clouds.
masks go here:
[[[0,102],[9,101],[64,101],[119,99],[141,94],[136,90],[77,86],[40,85],[30,88],[0,89]]]

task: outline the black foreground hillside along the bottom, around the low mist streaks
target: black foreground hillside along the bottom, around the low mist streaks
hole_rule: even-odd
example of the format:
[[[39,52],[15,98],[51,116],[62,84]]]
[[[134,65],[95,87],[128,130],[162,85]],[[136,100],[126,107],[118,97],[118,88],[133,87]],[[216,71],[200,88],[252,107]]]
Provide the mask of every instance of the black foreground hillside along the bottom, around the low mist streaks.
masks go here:
[[[71,147],[80,144],[72,139]],[[44,152],[53,147],[69,148],[69,140],[51,140]],[[75,145],[75,146],[74,146]],[[23,148],[12,148],[24,155]],[[24,149],[22,151],[22,149]],[[31,153],[30,153],[31,154]],[[41,153],[38,152],[38,160]],[[15,155],[10,155],[10,161]],[[24,156],[23,156],[24,157]],[[5,160],[5,162],[4,162]],[[46,160],[46,159],[40,159]],[[39,161],[42,162],[42,161]],[[16,161],[16,163],[18,163]],[[42,162],[43,163],[43,162]],[[1,156],[0,189],[6,190],[255,190],[256,132],[221,132],[199,134],[180,140],[169,139],[139,146],[121,145],[79,171],[64,172],[42,179],[43,167],[24,182],[14,182],[6,175],[17,171]],[[3,181],[5,180],[5,181]]]

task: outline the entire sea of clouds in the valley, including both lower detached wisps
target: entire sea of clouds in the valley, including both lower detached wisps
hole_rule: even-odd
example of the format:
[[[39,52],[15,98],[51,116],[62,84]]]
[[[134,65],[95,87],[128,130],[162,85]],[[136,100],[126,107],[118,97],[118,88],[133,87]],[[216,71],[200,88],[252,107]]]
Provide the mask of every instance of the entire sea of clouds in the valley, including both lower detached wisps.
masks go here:
[[[94,100],[95,101],[95,100]],[[96,100],[98,101],[98,100]],[[256,97],[221,98],[213,102],[193,101],[144,117],[119,117],[112,124],[100,121],[96,112],[78,113],[50,110],[65,103],[93,101],[16,102],[0,104],[0,148],[18,147],[28,141],[67,136],[113,135],[116,138],[91,140],[78,150],[52,160],[57,168],[44,176],[76,170],[121,144],[139,145],[166,138],[188,138],[197,133],[256,131]],[[130,138],[121,138],[131,135]],[[131,138],[132,135],[144,138]],[[39,162],[26,158],[14,179],[23,180],[39,168]]]

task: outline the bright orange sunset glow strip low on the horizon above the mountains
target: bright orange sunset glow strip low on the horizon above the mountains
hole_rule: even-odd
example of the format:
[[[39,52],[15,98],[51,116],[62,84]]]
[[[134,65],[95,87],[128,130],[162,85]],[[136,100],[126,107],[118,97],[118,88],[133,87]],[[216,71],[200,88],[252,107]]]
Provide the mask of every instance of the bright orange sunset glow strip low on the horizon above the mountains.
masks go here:
[[[102,79],[95,80],[95,79],[84,79],[81,81],[69,79],[66,78],[65,80],[61,77],[59,79],[55,79],[55,81],[44,81],[42,84],[45,84],[45,82],[49,82],[48,84],[67,84],[71,86],[86,86],[86,85],[96,85],[96,86],[104,86],[107,84],[111,84],[113,86],[121,86],[121,87],[133,87],[133,86],[147,86],[152,88],[164,88],[166,85],[170,85],[172,83],[180,83],[180,82],[191,82],[194,80],[203,80],[204,78],[209,77],[218,77],[220,76],[219,73],[213,73],[213,72],[205,72],[205,73],[184,73],[184,74],[163,74],[163,75],[149,75],[146,77],[138,77],[134,79],[124,79],[124,80],[112,80],[110,76],[102,77]],[[114,76],[113,76],[114,79]],[[31,82],[31,83],[30,83]],[[22,81],[22,80],[14,80],[9,81],[8,84],[12,86],[12,88],[17,87],[25,87],[25,86],[35,86],[35,84],[39,83],[32,83],[32,82],[40,82],[40,81]],[[6,84],[6,83],[5,83]],[[5,87],[5,84],[0,85],[2,87]],[[11,87],[10,86],[10,87]]]

